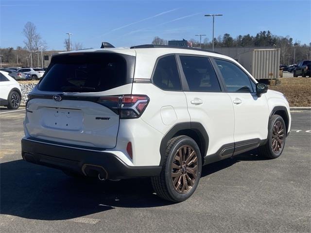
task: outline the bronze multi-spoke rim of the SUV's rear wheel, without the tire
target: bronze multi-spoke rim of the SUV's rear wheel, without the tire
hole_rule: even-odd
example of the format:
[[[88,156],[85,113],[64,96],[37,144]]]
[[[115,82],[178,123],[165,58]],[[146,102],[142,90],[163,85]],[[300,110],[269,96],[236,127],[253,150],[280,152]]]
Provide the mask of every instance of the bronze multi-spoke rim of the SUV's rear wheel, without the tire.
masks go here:
[[[198,157],[195,150],[185,145],[179,148],[172,162],[171,178],[174,189],[181,194],[194,186],[198,175]]]

